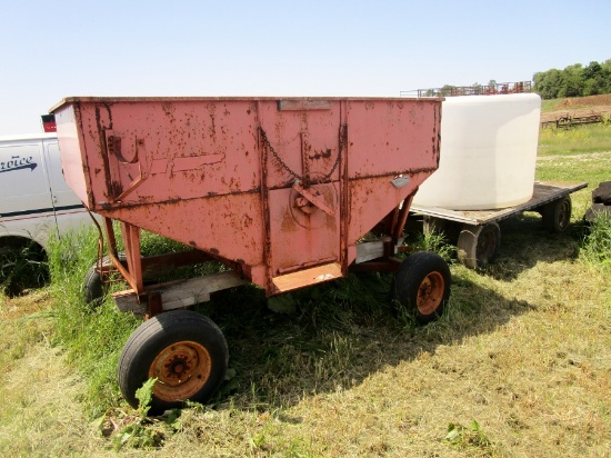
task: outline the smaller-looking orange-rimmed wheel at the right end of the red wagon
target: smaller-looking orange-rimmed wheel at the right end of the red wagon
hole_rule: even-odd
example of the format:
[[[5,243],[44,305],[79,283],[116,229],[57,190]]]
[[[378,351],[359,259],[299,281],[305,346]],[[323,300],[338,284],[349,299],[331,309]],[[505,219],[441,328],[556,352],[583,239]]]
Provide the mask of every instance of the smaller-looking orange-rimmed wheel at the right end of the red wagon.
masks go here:
[[[451,275],[441,256],[421,251],[410,255],[394,278],[394,298],[405,310],[425,325],[443,313],[450,297]]]

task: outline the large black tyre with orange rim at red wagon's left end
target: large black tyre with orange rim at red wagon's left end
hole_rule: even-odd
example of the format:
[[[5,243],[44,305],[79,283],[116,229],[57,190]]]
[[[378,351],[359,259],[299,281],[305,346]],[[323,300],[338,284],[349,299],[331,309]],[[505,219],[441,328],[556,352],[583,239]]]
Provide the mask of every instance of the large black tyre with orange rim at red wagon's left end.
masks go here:
[[[222,331],[208,317],[169,311],[144,321],[130,336],[119,358],[119,387],[138,408],[136,390],[157,378],[149,415],[203,402],[224,379],[229,350]]]

